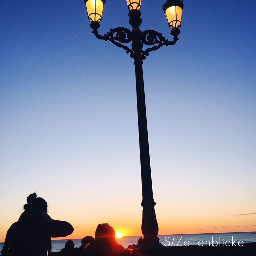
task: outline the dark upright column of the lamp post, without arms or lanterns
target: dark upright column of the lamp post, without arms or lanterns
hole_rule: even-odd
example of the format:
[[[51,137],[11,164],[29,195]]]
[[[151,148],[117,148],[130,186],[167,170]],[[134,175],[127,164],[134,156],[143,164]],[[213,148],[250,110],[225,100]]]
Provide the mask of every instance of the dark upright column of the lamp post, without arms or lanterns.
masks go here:
[[[142,224],[141,231],[144,236],[143,243],[140,248],[156,247],[159,243],[158,224],[155,213],[155,205],[153,199],[149,145],[148,145],[148,129],[145,104],[144,79],[142,70],[142,39],[143,34],[139,29],[142,22],[140,11],[129,11],[129,23],[133,27],[132,30],[132,49],[134,50],[134,65],[136,77],[136,93],[137,93],[137,110],[138,110],[138,126],[139,126],[139,152],[140,152],[140,168],[141,168],[141,184],[142,184]]]

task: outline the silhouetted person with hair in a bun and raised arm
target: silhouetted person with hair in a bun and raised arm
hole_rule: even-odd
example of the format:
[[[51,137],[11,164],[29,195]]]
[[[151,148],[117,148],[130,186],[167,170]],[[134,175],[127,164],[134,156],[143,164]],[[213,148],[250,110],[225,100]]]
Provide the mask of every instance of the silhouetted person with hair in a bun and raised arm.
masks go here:
[[[33,193],[28,196],[19,221],[7,231],[1,255],[51,256],[51,237],[65,237],[73,231],[68,222],[51,219],[47,202]]]

